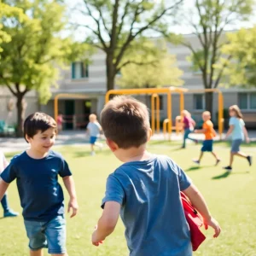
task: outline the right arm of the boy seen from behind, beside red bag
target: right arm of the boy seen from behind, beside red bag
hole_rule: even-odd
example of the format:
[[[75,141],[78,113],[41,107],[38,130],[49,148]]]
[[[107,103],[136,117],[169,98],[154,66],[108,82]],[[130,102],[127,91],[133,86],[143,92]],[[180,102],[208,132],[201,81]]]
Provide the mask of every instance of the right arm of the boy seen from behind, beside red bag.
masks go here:
[[[211,213],[208,210],[207,203],[200,191],[195,187],[195,185],[191,184],[188,189],[183,190],[183,193],[189,197],[192,205],[201,213],[206,230],[208,229],[208,226],[211,226],[213,230],[215,230],[213,237],[218,237],[221,231],[220,226],[218,222],[212,218]]]

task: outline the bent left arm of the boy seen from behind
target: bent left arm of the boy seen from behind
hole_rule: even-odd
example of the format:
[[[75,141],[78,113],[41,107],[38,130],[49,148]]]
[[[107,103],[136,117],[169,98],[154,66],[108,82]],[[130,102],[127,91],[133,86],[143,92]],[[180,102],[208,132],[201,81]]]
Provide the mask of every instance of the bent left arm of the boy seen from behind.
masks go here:
[[[93,232],[91,242],[96,247],[109,236],[119,219],[121,205],[116,201],[107,201],[105,203],[102,217],[98,220],[96,230]]]

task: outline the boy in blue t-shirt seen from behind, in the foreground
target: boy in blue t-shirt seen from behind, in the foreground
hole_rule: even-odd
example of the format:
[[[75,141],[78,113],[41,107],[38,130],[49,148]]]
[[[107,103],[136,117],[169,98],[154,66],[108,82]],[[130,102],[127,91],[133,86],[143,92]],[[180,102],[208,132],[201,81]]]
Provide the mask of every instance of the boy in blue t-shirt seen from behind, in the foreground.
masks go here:
[[[220,233],[201,193],[169,157],[150,154],[147,107],[137,100],[117,96],[102,110],[102,130],[108,147],[124,164],[109,175],[102,200],[102,217],[92,235],[99,246],[117,224],[125,224],[125,238],[133,256],[190,256],[192,247],[180,191],[201,213],[204,224]]]

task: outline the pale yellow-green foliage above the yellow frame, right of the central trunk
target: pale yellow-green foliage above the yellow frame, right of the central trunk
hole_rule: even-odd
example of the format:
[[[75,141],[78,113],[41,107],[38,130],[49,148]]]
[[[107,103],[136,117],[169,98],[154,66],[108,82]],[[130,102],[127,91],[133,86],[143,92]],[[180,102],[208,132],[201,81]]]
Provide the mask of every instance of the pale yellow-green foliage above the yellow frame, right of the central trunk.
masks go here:
[[[129,64],[121,69],[117,84],[123,88],[150,88],[182,85],[183,71],[177,67],[176,57],[167,52],[165,44],[144,41],[128,55]],[[129,50],[130,51],[130,50]],[[125,60],[124,60],[125,61]],[[141,65],[137,65],[141,63]],[[147,64],[144,64],[147,63]]]

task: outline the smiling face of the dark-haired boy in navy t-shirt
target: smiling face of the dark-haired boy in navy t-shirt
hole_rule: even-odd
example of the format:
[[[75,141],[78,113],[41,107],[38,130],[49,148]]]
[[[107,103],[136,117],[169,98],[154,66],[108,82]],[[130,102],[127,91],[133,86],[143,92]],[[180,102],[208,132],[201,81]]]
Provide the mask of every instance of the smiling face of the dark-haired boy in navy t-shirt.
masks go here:
[[[38,131],[33,137],[26,137],[26,140],[31,144],[32,150],[36,150],[45,154],[55,143],[55,128],[49,128],[46,131]]]

